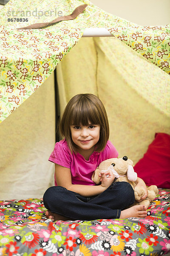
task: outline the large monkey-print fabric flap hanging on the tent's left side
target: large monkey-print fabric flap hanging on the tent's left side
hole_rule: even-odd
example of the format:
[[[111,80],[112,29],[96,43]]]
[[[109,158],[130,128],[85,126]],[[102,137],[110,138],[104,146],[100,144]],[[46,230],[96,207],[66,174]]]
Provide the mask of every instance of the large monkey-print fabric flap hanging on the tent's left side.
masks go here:
[[[17,109],[77,43],[76,29],[8,31],[0,26],[0,122]],[[2,39],[3,38],[3,39]],[[10,41],[8,40],[10,38]]]

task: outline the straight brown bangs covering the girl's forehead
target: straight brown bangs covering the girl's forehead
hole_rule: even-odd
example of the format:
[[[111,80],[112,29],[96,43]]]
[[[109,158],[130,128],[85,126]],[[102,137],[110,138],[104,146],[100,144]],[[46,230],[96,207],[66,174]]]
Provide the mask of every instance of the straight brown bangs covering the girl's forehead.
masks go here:
[[[71,111],[71,124],[72,125],[83,125],[88,126],[89,124],[101,124],[101,118],[99,116],[98,109],[91,104],[91,102],[87,102],[82,100],[82,102],[78,102],[75,106],[73,106]]]

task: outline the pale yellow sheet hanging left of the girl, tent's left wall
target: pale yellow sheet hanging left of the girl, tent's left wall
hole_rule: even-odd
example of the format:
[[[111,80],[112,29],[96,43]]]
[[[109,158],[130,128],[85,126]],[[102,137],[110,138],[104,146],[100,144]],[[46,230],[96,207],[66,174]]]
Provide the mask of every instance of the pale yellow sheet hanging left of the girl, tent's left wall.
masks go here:
[[[54,185],[54,73],[0,125],[0,200],[42,198]]]

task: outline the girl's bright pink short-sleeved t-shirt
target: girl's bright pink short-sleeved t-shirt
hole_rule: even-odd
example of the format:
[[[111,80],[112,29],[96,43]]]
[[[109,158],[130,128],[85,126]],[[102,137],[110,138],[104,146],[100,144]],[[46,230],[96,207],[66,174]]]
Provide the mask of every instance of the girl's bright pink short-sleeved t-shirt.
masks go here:
[[[55,144],[54,150],[48,160],[69,168],[71,170],[72,184],[95,185],[91,180],[93,172],[99,166],[99,163],[113,157],[118,157],[118,151],[109,140],[102,152],[94,151],[89,157],[89,160],[85,160],[79,153],[75,154],[73,152],[71,154],[67,142],[64,139]],[[56,178],[55,186],[57,186]]]

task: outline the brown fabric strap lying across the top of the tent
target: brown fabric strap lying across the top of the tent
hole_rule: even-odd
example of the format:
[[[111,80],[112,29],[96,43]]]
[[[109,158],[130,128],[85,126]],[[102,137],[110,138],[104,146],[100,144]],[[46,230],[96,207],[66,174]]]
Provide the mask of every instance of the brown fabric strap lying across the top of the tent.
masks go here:
[[[57,23],[62,20],[74,20],[80,13],[84,11],[84,9],[88,6],[88,4],[83,4],[78,6],[70,15],[58,17],[51,22],[43,22],[43,23],[35,23],[26,27],[18,28],[18,29],[42,29],[46,26],[50,26],[54,23]]]

